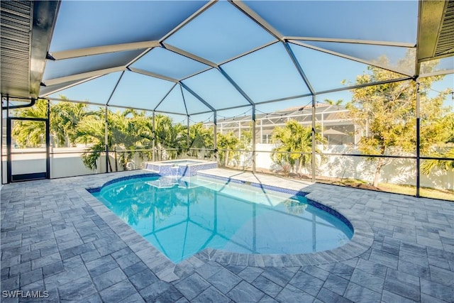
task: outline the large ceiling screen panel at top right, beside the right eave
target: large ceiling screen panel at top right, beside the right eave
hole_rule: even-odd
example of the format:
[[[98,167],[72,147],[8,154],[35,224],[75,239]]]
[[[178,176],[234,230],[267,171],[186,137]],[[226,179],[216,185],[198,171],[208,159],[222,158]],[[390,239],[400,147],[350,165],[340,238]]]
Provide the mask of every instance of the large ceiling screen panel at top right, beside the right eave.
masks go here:
[[[245,1],[282,35],[416,43],[418,1]]]

